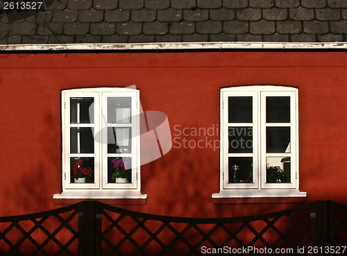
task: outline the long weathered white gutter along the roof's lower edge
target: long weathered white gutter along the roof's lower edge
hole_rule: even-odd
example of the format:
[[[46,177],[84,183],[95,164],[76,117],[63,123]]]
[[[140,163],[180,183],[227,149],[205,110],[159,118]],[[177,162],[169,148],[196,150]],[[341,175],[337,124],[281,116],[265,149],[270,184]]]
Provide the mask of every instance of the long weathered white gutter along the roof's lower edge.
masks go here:
[[[0,51],[347,50],[347,42],[167,42],[139,44],[0,44]]]

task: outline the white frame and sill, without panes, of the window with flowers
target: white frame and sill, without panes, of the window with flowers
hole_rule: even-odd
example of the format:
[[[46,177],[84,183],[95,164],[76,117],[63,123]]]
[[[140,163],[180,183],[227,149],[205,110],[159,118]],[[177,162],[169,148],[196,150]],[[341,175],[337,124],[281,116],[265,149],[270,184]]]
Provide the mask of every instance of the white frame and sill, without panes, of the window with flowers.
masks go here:
[[[107,124],[108,97],[130,97],[131,122],[115,125]],[[70,99],[73,97],[94,97],[94,123],[70,122]],[[139,89],[126,87],[99,87],[66,89],[61,92],[62,99],[62,193],[53,195],[53,198],[146,198],[142,195],[140,176],[140,104]],[[131,127],[130,153],[108,153],[107,127]],[[70,127],[94,128],[94,153],[71,154]],[[70,157],[94,157],[94,183],[71,183]],[[130,183],[108,183],[108,156],[132,157],[132,180]]]

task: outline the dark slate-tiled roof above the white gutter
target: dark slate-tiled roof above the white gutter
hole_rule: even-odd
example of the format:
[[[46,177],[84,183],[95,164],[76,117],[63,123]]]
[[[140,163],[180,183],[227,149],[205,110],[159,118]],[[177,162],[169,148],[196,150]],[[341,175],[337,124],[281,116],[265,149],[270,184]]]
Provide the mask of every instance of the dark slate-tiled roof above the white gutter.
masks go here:
[[[0,9],[0,44],[347,40],[346,0],[46,0],[40,11]]]

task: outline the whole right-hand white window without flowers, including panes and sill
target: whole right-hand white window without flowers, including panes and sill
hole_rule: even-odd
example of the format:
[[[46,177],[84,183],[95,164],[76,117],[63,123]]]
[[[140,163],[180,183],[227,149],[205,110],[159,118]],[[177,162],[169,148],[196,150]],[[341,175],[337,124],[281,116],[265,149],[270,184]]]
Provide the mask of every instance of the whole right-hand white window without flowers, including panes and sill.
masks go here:
[[[298,89],[221,89],[220,167],[213,198],[306,196],[298,191]]]

